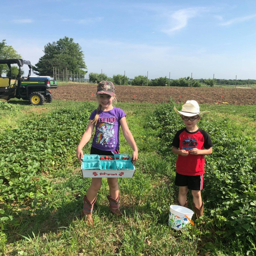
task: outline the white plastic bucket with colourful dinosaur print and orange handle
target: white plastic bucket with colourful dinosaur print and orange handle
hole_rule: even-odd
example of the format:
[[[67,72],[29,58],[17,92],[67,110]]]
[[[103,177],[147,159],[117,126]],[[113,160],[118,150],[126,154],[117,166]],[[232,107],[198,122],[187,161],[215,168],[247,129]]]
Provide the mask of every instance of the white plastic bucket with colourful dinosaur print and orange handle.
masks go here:
[[[194,212],[180,205],[170,205],[168,225],[175,230],[184,229],[191,220]],[[188,217],[186,217],[186,216]]]

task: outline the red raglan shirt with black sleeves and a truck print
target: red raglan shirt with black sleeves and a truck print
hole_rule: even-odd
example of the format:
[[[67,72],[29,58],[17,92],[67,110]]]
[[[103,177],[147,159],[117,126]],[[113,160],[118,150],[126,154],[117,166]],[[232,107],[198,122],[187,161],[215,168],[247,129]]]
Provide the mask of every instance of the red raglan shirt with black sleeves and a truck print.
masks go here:
[[[198,128],[196,132],[188,132],[185,128],[179,130],[172,141],[175,148],[189,150],[192,148],[208,149],[212,147],[212,140],[207,132]],[[195,176],[204,174],[204,156],[191,155],[178,156],[176,172],[183,175]]]

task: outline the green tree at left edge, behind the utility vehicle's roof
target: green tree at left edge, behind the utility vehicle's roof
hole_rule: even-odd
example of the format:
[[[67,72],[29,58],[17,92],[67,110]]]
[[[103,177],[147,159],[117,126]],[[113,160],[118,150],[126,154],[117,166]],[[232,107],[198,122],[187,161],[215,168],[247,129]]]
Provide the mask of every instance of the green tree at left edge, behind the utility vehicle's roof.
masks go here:
[[[20,54],[18,54],[11,45],[7,45],[5,41],[6,40],[4,39],[0,42],[0,59],[20,59]],[[0,64],[0,77],[2,77],[3,73],[8,72],[8,66],[6,64]]]

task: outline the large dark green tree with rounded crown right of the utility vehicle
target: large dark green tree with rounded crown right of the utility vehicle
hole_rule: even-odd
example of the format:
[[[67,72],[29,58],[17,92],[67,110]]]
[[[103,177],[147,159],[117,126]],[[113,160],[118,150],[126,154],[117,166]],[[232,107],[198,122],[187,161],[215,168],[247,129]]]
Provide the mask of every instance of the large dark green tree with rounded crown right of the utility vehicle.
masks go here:
[[[87,69],[84,62],[84,53],[79,44],[73,38],[60,38],[57,42],[48,43],[44,46],[44,56],[42,56],[32,70],[36,75],[51,76],[53,67],[59,70],[66,68],[73,74],[85,75]]]

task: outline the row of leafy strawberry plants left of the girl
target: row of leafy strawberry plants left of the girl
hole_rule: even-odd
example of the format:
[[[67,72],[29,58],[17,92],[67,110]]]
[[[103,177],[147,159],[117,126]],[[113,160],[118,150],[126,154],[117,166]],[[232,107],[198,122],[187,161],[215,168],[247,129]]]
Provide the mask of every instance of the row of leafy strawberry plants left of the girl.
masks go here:
[[[0,134],[2,232],[8,225],[18,225],[16,217],[30,215],[47,202],[52,188],[42,173],[73,164],[68,156],[74,155],[92,110],[90,103],[63,108]]]

